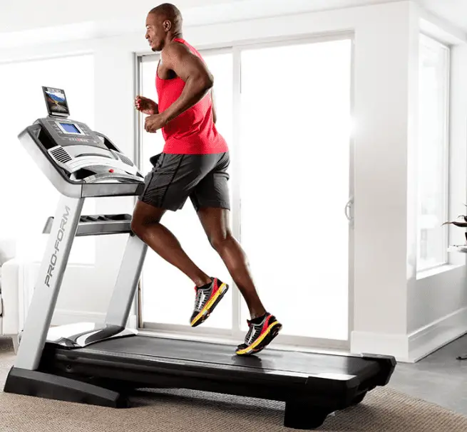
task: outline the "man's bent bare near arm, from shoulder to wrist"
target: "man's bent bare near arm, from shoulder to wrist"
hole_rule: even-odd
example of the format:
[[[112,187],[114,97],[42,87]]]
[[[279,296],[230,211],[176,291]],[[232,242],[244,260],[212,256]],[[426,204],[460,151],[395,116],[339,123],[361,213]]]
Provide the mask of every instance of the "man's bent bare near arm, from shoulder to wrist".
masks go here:
[[[173,70],[185,81],[180,98],[161,112],[165,122],[170,122],[204,98],[212,88],[214,78],[205,63],[181,43],[170,43],[162,53],[162,60],[166,68]]]

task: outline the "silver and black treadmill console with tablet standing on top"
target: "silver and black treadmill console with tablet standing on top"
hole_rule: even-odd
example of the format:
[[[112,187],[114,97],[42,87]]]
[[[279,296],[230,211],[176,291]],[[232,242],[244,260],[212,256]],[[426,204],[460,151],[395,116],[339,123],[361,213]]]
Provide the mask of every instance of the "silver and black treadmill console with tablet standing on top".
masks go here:
[[[66,196],[138,195],[143,174],[105,135],[68,118],[64,90],[43,87],[48,117],[19,134],[34,161]]]

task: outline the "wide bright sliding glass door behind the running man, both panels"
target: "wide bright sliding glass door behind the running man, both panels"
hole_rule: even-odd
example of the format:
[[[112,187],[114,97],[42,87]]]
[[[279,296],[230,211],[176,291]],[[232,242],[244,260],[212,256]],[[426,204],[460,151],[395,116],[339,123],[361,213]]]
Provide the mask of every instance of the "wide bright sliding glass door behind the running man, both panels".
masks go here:
[[[340,346],[349,339],[351,226],[344,209],[352,189],[351,45],[345,38],[201,51],[215,77],[217,127],[230,146],[233,232],[267,310],[284,324],[277,340],[285,344]],[[158,56],[139,58],[140,93],[155,99],[157,64]],[[144,132],[143,117],[147,172],[163,139]],[[238,342],[247,330],[245,302],[190,201],[163,223],[195,263],[232,289],[193,330],[193,283],[149,251],[143,327]]]

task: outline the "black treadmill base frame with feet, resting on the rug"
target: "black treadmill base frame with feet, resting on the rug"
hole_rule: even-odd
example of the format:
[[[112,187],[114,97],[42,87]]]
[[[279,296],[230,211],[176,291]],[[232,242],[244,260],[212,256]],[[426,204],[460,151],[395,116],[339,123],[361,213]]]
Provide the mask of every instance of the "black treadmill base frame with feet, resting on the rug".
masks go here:
[[[103,342],[106,343],[111,342]],[[213,371],[193,360],[142,358],[140,354],[132,357],[118,351],[99,351],[93,345],[66,349],[46,344],[39,370],[13,367],[4,391],[117,409],[128,408],[129,396],[135,391],[138,394],[138,389],[212,391],[284,401],[284,426],[313,430],[322,426],[329,414],[359,404],[368,391],[389,382],[396,366],[394,357],[371,354],[361,357],[376,362],[379,372],[345,381],[329,376],[291,375],[285,383],[274,378],[274,374],[265,381],[262,373],[240,369],[235,369],[235,374],[229,369]],[[249,386],[245,386],[245,381]]]

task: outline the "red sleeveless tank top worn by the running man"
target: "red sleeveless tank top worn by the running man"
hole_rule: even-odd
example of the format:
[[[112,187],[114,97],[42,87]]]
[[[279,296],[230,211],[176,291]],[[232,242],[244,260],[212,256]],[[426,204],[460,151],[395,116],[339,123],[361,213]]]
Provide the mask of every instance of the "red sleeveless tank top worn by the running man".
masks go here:
[[[192,53],[202,59],[200,53],[184,39],[176,38],[174,41],[185,44]],[[180,97],[185,88],[185,81],[179,77],[162,80],[156,72],[155,88],[159,98],[159,112],[163,112]],[[168,122],[162,132],[165,139],[164,153],[211,154],[228,151],[227,142],[217,132],[212,119],[210,92],[193,107]]]

